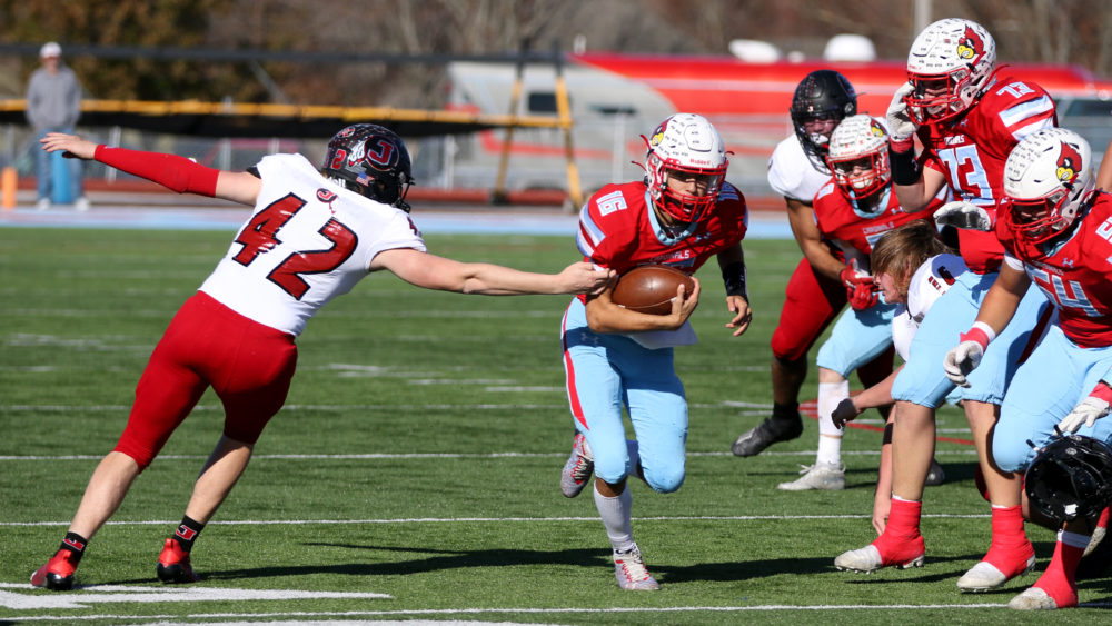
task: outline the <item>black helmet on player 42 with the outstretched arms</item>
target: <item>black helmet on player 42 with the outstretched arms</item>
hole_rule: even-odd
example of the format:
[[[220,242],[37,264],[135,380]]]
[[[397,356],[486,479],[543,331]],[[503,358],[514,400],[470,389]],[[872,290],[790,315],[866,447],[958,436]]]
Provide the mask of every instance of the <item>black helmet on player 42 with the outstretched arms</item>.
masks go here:
[[[360,196],[409,212],[413,162],[405,141],[388,128],[356,123],[337,132],[320,171]]]

